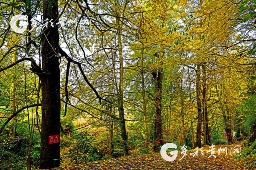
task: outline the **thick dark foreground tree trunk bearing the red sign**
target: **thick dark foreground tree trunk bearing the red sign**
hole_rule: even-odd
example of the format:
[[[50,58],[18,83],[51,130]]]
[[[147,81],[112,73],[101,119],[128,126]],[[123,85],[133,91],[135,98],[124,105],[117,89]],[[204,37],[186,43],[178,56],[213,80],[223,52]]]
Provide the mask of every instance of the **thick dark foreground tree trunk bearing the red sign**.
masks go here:
[[[59,143],[48,144],[48,137],[60,134],[60,69],[58,57],[59,35],[57,23],[58,0],[43,1],[43,20],[54,22],[54,27],[48,25],[42,34],[42,121],[41,121],[41,157],[40,169],[54,168],[60,165]]]

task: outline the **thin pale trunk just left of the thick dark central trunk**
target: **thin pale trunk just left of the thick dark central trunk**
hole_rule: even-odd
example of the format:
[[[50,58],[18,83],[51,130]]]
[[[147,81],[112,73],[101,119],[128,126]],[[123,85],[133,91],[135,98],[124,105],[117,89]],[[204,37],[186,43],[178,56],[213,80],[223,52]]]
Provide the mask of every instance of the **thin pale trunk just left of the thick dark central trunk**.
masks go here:
[[[142,100],[143,100],[143,116],[144,116],[144,134],[145,134],[145,146],[148,147],[148,120],[147,120],[147,107],[145,97],[145,83],[144,83],[144,47],[142,49],[141,58],[141,86],[142,86]]]

